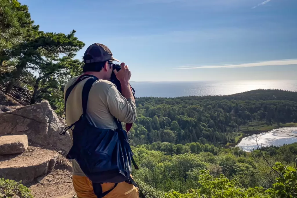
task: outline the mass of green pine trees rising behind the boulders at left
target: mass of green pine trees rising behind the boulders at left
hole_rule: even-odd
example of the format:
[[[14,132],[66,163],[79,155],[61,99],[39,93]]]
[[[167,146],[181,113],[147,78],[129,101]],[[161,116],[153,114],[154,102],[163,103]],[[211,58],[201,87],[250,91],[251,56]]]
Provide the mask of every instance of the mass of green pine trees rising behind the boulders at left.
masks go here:
[[[40,31],[28,7],[16,0],[0,3],[0,80],[5,92],[21,86],[32,91],[29,104],[48,99],[61,110],[65,83],[82,71],[82,61],[74,57],[85,44],[75,37],[75,30]]]

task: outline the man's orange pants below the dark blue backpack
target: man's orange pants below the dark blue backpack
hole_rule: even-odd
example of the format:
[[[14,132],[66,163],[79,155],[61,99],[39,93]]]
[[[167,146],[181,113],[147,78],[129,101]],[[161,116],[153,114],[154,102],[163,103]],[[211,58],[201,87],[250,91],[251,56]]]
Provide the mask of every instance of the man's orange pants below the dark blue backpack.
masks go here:
[[[97,198],[93,191],[92,181],[87,177],[73,175],[72,183],[78,198]],[[102,192],[113,188],[115,183],[103,183]],[[138,189],[127,182],[118,183],[104,198],[139,198]]]

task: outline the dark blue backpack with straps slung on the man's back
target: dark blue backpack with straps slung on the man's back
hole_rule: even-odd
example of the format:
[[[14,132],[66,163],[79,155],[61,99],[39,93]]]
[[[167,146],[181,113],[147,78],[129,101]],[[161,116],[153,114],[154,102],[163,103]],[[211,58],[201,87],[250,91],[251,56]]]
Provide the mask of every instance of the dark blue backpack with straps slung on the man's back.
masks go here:
[[[120,182],[132,183],[137,187],[137,184],[130,176],[132,171],[131,161],[136,170],[138,166],[133,159],[127,133],[123,130],[118,119],[114,118],[117,129],[111,130],[99,129],[86,118],[89,91],[92,84],[98,80],[97,77],[92,75],[80,76],[66,91],[65,109],[67,98],[72,89],[86,78],[89,79],[83,86],[83,114],[78,121],[61,131],[60,135],[65,134],[68,129],[72,129],[74,126],[72,130],[73,145],[67,154],[67,159],[75,159],[78,162],[81,170],[92,181],[95,194],[98,197],[104,197]],[[100,183],[116,184],[113,189],[102,193]]]

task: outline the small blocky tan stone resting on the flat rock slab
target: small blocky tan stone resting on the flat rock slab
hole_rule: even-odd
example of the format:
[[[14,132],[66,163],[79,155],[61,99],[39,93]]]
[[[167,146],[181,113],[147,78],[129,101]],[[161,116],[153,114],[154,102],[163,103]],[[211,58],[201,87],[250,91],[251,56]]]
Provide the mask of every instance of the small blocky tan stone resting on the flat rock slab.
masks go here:
[[[0,155],[23,153],[27,148],[27,135],[4,135],[0,137]]]

